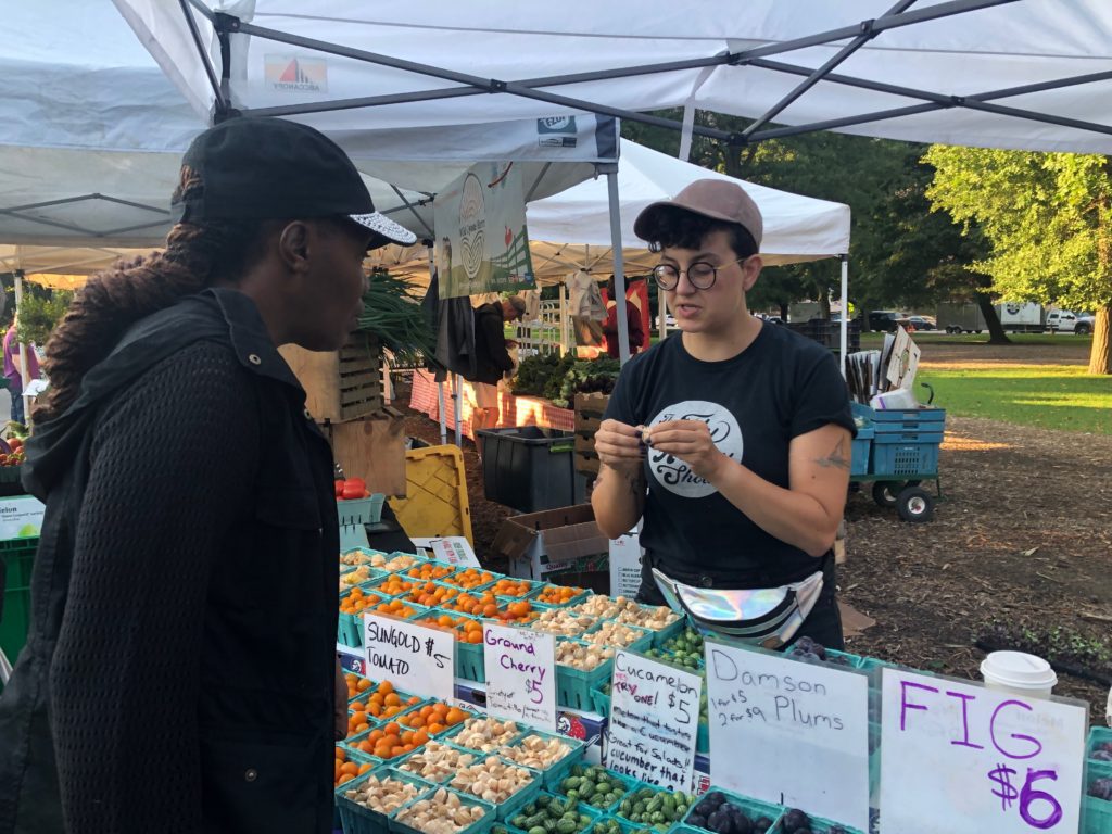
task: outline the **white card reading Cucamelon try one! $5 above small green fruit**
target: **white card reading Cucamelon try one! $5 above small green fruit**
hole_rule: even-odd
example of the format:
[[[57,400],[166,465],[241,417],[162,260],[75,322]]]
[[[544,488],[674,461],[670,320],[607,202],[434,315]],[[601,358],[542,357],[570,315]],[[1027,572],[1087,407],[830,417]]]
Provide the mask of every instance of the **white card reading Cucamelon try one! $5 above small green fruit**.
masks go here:
[[[669,791],[689,791],[702,689],[696,674],[616,652],[606,766]]]

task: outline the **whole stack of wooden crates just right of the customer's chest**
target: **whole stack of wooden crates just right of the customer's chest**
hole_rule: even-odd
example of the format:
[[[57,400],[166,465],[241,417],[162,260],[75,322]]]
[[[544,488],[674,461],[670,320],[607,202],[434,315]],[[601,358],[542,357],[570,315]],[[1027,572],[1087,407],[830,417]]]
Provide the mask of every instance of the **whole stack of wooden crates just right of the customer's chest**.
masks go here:
[[[378,340],[355,332],[339,350],[316,353],[294,345],[280,350],[344,474],[366,480],[371,493],[404,496],[405,425],[401,414],[385,405]]]

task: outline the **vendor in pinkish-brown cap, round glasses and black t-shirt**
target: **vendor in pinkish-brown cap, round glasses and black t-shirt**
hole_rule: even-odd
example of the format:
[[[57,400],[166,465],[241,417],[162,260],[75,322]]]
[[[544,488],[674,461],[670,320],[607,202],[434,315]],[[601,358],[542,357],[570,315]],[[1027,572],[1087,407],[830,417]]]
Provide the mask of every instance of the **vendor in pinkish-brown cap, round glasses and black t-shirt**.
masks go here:
[[[753,199],[697,180],[638,216],[678,338],[622,370],[595,435],[592,505],[612,538],[644,517],[638,599],[653,577],[696,588],[777,588],[822,574],[795,636],[841,648],[832,546],[845,506],[853,418],[834,356],[746,307],[762,261]],[[817,577],[815,577],[817,582]]]

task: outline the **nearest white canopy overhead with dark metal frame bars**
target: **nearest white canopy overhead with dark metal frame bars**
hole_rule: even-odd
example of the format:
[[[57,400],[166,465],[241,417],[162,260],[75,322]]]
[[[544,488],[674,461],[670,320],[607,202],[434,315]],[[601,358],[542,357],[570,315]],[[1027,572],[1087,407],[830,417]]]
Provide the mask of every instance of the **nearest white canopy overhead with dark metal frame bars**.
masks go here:
[[[567,0],[558,13],[454,0],[115,2],[205,118],[300,113],[331,132],[691,105],[914,141],[1112,151],[1105,0]],[[214,10],[230,16],[229,100]],[[773,135],[758,125],[719,138]]]

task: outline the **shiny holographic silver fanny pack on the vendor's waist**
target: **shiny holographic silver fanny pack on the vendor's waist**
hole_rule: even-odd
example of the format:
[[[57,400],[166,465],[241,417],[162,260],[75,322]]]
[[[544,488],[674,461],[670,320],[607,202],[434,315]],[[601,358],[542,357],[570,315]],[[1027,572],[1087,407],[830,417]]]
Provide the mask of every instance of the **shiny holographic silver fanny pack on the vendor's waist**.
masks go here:
[[[778,588],[695,588],[653,568],[668,606],[686,614],[704,634],[775,649],[791,642],[823,589],[823,573]]]

